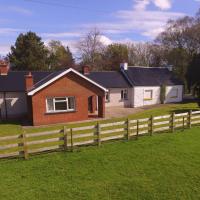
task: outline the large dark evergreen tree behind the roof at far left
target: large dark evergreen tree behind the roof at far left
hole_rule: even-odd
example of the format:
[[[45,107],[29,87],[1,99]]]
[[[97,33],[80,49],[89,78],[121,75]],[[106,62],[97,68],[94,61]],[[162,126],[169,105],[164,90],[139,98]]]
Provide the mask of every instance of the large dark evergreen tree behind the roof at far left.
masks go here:
[[[20,34],[8,59],[15,70],[47,70],[47,49],[33,32]]]

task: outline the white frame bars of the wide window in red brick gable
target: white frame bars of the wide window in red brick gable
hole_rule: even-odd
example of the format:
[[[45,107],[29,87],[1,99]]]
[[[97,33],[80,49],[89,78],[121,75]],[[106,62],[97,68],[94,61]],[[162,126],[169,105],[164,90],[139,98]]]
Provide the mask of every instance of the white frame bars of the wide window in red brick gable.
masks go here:
[[[59,98],[62,98],[64,100],[56,100],[56,99],[59,99]],[[69,98],[73,98],[74,99],[74,108],[69,108]],[[49,99],[53,99],[53,110],[49,110],[49,107],[48,107],[48,100]],[[66,110],[56,110],[56,106],[55,104],[57,102],[66,102],[66,105],[67,105],[67,109]],[[75,97],[74,96],[68,96],[68,97],[47,97],[46,98],[46,112],[47,113],[59,113],[59,112],[73,112],[76,110],[76,100],[75,100]]]

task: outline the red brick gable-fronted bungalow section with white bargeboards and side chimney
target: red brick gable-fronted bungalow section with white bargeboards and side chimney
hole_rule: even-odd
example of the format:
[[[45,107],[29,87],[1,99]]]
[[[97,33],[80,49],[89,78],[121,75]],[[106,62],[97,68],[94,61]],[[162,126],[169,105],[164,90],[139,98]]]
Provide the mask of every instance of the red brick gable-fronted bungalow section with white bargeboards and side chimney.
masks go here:
[[[26,76],[28,113],[33,125],[64,123],[88,119],[98,96],[98,117],[105,116],[106,88],[70,68],[50,74],[33,85]]]

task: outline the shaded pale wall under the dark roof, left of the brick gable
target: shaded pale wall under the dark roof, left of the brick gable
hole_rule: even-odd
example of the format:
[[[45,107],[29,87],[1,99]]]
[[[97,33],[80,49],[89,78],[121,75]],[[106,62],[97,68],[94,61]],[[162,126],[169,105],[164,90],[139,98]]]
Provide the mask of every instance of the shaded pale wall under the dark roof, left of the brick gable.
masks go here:
[[[27,113],[27,100],[25,93],[6,92],[5,98],[8,118],[19,117]],[[2,118],[5,118],[6,110],[3,93],[0,93],[0,110]]]

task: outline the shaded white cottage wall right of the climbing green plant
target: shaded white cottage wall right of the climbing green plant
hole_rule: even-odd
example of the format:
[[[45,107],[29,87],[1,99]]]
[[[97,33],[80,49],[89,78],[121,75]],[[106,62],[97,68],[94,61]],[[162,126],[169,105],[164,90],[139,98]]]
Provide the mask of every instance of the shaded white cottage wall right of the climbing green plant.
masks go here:
[[[173,94],[174,89],[178,91],[176,98],[174,98],[174,94]],[[175,85],[175,86],[167,86],[166,87],[165,103],[181,102],[182,100],[183,100],[183,86],[182,85]]]

